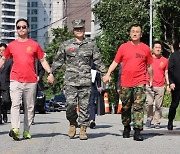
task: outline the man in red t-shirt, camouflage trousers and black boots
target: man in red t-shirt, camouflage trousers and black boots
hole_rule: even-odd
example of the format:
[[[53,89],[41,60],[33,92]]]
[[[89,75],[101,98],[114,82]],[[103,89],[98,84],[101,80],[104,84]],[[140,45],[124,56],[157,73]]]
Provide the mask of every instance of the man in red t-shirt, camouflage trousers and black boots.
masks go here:
[[[133,114],[134,140],[143,141],[140,131],[143,129],[146,72],[150,75],[152,85],[152,55],[150,48],[140,41],[142,28],[138,24],[130,27],[131,41],[122,44],[108,72],[103,77],[104,82],[110,80],[110,75],[119,63],[122,63],[121,94],[123,138],[130,137],[131,107]]]

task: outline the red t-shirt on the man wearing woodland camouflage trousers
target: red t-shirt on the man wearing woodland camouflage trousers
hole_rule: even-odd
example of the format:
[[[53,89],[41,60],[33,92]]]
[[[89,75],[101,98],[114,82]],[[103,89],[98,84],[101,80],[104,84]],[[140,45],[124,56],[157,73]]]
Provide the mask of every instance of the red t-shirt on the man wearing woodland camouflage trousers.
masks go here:
[[[119,47],[114,61],[122,62],[122,87],[146,84],[147,66],[152,63],[149,46],[142,42],[138,45],[133,45],[130,41],[124,43]]]

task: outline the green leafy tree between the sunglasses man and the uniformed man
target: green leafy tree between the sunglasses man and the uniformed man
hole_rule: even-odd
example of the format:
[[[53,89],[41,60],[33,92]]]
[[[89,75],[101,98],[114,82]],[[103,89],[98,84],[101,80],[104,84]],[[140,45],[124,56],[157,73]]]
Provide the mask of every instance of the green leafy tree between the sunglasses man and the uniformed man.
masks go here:
[[[52,29],[52,35],[54,36],[54,39],[52,42],[46,47],[46,59],[51,65],[53,62],[54,57],[57,54],[57,51],[62,44],[63,41],[68,40],[73,37],[73,33],[68,31],[67,27],[64,28],[55,28]],[[64,67],[61,67],[57,70],[57,72],[54,74],[55,76],[55,82],[53,86],[50,86],[46,82],[44,82],[45,86],[48,87],[47,93],[49,95],[59,93],[61,89],[63,88],[63,76],[64,76]],[[47,75],[44,76],[44,80],[47,78]]]

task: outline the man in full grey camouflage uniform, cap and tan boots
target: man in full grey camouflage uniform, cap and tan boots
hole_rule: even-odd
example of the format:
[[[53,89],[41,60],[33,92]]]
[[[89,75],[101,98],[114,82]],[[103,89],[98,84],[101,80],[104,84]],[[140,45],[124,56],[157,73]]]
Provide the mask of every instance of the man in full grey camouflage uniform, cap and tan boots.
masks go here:
[[[65,96],[67,99],[66,118],[70,122],[68,136],[73,138],[76,134],[77,121],[80,124],[81,140],[86,140],[86,128],[89,123],[89,98],[91,93],[91,66],[93,59],[97,71],[105,73],[100,52],[94,41],[84,38],[85,21],[74,20],[73,32],[75,38],[63,42],[52,64],[52,71],[66,64],[65,70]],[[79,117],[76,112],[77,100],[79,104]]]

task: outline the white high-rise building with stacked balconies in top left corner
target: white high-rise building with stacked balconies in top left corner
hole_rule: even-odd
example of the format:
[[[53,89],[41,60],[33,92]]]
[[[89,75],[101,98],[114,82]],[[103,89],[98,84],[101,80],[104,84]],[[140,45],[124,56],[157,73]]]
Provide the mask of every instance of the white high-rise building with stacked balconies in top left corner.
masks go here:
[[[8,44],[16,38],[16,20],[27,18],[27,0],[0,0],[0,16],[0,41]]]

